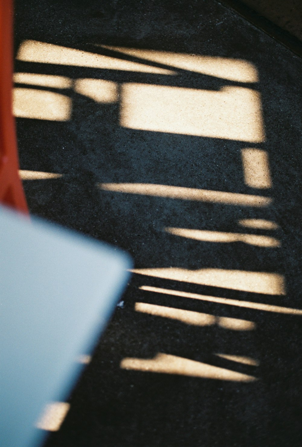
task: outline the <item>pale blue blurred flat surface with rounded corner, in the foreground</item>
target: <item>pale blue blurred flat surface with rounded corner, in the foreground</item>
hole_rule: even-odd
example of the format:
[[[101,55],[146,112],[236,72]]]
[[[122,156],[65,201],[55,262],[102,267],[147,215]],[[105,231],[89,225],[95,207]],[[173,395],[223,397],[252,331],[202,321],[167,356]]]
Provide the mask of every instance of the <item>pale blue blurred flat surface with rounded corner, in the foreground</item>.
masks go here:
[[[131,260],[109,245],[0,207],[0,445],[36,446],[111,315]]]

